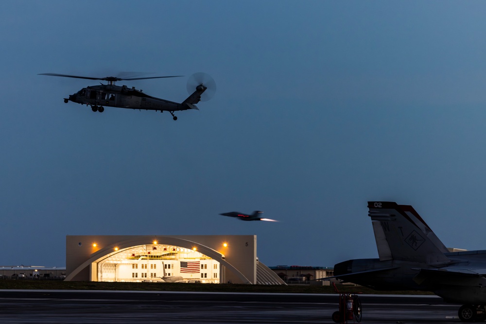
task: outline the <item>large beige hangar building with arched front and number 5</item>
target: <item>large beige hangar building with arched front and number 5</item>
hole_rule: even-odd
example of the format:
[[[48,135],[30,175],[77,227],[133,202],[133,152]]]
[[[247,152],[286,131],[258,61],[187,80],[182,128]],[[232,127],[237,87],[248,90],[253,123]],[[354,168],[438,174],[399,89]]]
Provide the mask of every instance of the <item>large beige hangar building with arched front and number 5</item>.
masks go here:
[[[285,285],[256,235],[67,236],[65,280]]]

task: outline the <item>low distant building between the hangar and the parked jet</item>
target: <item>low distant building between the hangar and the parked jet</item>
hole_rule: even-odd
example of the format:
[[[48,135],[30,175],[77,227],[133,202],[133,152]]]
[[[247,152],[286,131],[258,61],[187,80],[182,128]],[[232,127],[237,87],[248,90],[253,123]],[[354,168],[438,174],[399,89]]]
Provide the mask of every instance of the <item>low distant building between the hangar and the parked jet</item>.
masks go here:
[[[269,268],[285,282],[311,281],[334,275],[334,269],[328,267],[276,266]]]

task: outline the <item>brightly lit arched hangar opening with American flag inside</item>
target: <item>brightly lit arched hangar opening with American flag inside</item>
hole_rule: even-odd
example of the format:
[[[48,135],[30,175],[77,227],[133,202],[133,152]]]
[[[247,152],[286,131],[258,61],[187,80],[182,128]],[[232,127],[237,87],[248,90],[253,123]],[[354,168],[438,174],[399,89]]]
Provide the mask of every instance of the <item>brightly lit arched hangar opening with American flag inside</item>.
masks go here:
[[[220,263],[197,248],[174,245],[139,245],[98,262],[97,281],[220,282]]]

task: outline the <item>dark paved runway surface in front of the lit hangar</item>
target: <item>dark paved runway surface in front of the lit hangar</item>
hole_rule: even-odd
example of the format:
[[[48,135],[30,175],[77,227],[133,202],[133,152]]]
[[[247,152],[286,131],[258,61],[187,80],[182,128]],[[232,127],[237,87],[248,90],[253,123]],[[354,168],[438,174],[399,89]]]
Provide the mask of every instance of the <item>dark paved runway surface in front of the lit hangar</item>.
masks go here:
[[[436,296],[360,295],[361,323],[461,323]],[[334,323],[334,294],[0,290],[3,323]],[[349,321],[348,323],[353,323]]]

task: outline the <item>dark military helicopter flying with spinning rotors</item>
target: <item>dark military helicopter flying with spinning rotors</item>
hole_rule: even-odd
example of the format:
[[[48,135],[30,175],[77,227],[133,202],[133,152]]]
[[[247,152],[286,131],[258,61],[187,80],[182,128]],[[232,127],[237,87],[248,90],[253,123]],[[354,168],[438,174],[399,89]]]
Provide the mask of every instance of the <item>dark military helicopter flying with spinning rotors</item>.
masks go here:
[[[78,92],[69,95],[68,98],[64,98],[64,102],[68,103],[76,102],[80,104],[86,104],[91,106],[93,112],[104,112],[104,107],[117,107],[139,110],[155,110],[155,111],[168,111],[171,113],[174,120],[177,120],[177,116],[174,115],[175,111],[182,111],[188,109],[199,108],[196,103],[200,101],[208,101],[212,98],[216,92],[216,84],[214,80],[206,73],[198,72],[191,75],[187,82],[187,89],[190,96],[183,102],[172,102],[165,99],[149,96],[137,90],[135,87],[129,88],[126,85],[115,85],[117,81],[132,81],[132,80],[144,80],[144,79],[160,79],[160,78],[177,78],[182,75],[173,76],[156,76],[145,78],[119,78],[108,76],[104,78],[85,77],[77,75],[67,75],[58,73],[40,73],[39,75],[50,75],[58,77],[87,79],[87,80],[102,80],[106,81],[106,84],[100,83],[100,85],[91,85],[82,88]],[[209,90],[208,90],[209,89]],[[208,90],[208,91],[207,91]],[[206,92],[207,91],[207,92]],[[204,95],[204,96],[203,96]]]

